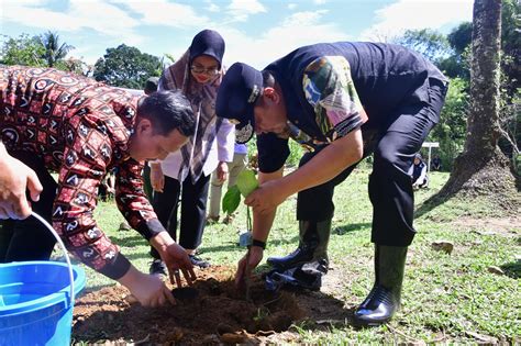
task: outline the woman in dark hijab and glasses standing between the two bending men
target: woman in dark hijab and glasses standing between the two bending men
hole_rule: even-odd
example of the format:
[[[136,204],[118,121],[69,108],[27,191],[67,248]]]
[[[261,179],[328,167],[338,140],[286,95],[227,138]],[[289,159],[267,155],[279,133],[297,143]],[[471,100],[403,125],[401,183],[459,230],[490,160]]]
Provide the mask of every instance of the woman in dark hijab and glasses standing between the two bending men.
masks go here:
[[[224,40],[212,30],[198,33],[182,57],[163,71],[158,90],[182,90],[197,115],[197,130],[187,145],[163,161],[151,163],[153,205],[159,221],[176,239],[177,209],[180,198],[179,244],[193,265],[209,264],[196,256],[201,244],[210,175],[228,176],[226,163],[233,159],[234,125],[217,118],[215,98],[224,68]],[[151,274],[165,275],[159,254],[151,248]]]

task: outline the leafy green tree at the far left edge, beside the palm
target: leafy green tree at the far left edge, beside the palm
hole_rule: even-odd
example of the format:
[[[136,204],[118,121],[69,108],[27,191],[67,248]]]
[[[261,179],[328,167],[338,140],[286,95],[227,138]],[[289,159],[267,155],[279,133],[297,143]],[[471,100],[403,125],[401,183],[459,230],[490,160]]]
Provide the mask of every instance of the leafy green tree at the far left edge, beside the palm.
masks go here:
[[[3,35],[3,44],[0,52],[0,63],[3,65],[45,66],[42,58],[45,48],[38,36],[21,34],[13,38]]]

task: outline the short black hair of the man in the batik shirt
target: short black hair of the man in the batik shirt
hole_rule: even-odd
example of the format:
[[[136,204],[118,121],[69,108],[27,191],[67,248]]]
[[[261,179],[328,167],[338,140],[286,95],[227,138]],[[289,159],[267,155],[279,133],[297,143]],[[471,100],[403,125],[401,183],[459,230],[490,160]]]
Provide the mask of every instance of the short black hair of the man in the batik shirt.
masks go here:
[[[174,130],[189,137],[196,132],[196,118],[190,101],[180,91],[157,91],[137,105],[137,116],[148,119],[154,132],[162,136]]]

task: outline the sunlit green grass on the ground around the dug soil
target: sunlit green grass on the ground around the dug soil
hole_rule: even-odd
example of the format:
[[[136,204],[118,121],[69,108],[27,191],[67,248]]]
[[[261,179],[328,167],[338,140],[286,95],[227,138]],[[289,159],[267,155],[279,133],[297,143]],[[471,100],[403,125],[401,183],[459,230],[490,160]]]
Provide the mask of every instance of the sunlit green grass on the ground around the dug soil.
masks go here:
[[[373,284],[368,174],[368,170],[355,170],[335,192],[336,212],[329,252],[336,269],[330,275],[342,276],[342,287],[334,298],[343,300],[346,309],[362,302]],[[417,192],[417,207],[441,189],[448,174],[432,172],[430,178],[430,189]],[[295,208],[295,197],[279,208],[265,258],[287,254],[297,246]],[[299,343],[478,342],[472,333],[500,342],[520,343],[518,258],[521,226],[511,224],[497,228],[486,222],[468,226],[457,222],[461,217],[490,217],[497,212],[495,205],[486,200],[452,199],[428,209],[414,223],[418,235],[408,255],[401,312],[388,325],[369,330],[356,330],[344,323],[330,326],[302,323],[293,328],[299,333]],[[96,216],[102,230],[121,246],[134,266],[147,271],[148,246],[134,231],[117,231],[123,217],[115,207],[100,203]],[[213,264],[235,266],[244,254],[236,243],[239,228],[246,226],[245,219],[245,207],[241,204],[232,225],[208,226],[200,247],[202,257]],[[431,243],[439,239],[452,242],[454,252],[447,255],[432,249]],[[500,267],[506,274],[490,274],[489,266]],[[113,284],[90,269],[87,274],[89,290]]]

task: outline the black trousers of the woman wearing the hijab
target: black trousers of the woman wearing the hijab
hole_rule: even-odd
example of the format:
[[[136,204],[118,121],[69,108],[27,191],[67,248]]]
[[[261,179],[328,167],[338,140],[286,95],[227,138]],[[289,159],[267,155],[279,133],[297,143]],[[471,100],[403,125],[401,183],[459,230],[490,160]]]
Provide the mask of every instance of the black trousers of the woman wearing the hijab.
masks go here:
[[[201,175],[196,183],[187,177],[182,182],[182,191],[179,180],[165,176],[163,192],[154,191],[153,207],[163,226],[174,239],[177,230],[177,209],[179,196],[181,197],[181,225],[179,232],[179,245],[187,249],[196,249],[201,245],[202,232],[204,230],[207,214],[208,188],[210,176]],[[151,247],[151,255],[160,258],[157,250]]]

